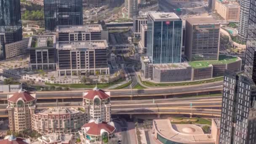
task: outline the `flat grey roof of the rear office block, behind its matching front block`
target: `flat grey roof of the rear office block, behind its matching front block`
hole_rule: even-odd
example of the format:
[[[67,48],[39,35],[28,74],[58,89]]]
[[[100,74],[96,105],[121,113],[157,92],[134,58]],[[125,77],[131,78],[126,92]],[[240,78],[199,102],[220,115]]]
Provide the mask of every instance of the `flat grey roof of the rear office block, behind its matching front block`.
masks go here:
[[[100,32],[102,27],[100,24],[88,24],[88,25],[68,25],[57,26],[56,32]]]

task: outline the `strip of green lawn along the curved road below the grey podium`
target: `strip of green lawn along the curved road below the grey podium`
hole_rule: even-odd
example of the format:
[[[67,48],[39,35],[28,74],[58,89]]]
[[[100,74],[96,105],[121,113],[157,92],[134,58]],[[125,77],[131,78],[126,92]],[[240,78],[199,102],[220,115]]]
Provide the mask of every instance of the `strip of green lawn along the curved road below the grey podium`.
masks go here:
[[[182,82],[182,83],[152,83],[149,81],[141,81],[141,83],[143,83],[146,86],[182,86],[182,85],[197,85],[197,84],[203,84],[203,83],[212,83],[212,82],[217,82],[222,80],[223,80],[223,77],[216,77],[210,80],[199,80],[199,81]]]

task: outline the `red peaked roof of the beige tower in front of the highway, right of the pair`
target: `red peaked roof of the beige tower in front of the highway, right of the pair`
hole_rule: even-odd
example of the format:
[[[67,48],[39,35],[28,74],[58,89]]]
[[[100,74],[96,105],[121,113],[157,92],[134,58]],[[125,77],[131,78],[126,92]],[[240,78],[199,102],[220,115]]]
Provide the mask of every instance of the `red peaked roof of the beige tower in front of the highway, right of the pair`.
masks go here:
[[[98,96],[100,99],[107,99],[109,95],[110,92],[103,91],[96,86],[93,90],[83,93],[83,98],[93,100],[95,96]]]

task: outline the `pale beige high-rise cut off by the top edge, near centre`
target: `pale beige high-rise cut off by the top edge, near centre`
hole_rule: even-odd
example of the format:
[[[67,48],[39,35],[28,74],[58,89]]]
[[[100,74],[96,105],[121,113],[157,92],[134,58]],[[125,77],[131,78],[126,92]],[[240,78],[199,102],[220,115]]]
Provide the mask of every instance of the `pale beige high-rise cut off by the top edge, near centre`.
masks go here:
[[[133,18],[138,13],[138,0],[125,0],[125,7],[123,8],[123,17]]]

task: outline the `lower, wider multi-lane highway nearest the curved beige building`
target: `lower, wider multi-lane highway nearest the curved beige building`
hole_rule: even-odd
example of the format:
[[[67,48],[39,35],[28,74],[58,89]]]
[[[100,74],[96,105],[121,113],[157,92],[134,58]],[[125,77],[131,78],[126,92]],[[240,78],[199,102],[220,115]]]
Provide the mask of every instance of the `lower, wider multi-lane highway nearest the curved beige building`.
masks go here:
[[[192,108],[190,107],[192,104]],[[50,107],[82,107],[81,102],[37,103],[38,109]],[[7,104],[0,104],[0,117],[7,117]],[[112,114],[190,114],[212,115],[220,114],[221,96],[171,98],[155,100],[111,101]],[[207,108],[207,109],[205,109]],[[216,109],[212,109],[216,108]]]

